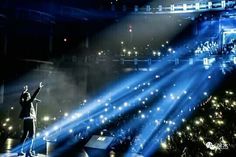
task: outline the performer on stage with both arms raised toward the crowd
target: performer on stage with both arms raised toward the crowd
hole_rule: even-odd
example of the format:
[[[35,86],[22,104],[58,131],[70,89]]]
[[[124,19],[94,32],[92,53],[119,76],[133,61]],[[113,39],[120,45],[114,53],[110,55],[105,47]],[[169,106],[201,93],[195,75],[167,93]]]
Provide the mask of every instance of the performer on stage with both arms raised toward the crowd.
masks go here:
[[[32,146],[33,146],[33,139],[35,136],[35,121],[36,121],[36,112],[33,106],[33,101],[37,100],[36,96],[39,93],[40,89],[43,87],[42,82],[39,83],[38,89],[34,92],[32,96],[28,92],[28,86],[24,86],[24,91],[20,97],[20,104],[21,104],[21,112],[20,112],[20,119],[23,119],[23,136],[21,138],[21,151],[18,153],[18,156],[25,155],[23,153],[24,143],[26,139],[29,140],[29,147],[26,149],[26,157],[34,156],[32,154]]]

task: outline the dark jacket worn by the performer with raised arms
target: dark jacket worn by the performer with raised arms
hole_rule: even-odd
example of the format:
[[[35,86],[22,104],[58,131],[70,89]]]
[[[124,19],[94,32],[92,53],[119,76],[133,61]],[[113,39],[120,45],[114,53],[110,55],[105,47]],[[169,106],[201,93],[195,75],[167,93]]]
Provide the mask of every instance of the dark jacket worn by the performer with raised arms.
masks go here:
[[[22,109],[21,109],[21,112],[20,112],[20,115],[19,115],[20,119],[24,119],[26,117],[31,117],[33,119],[36,119],[36,113],[35,113],[35,109],[34,109],[34,106],[33,106],[33,101],[36,98],[36,96],[39,93],[39,91],[40,91],[40,88],[38,88],[34,92],[32,97],[28,101],[23,101],[24,93],[21,94],[20,104],[21,104]]]

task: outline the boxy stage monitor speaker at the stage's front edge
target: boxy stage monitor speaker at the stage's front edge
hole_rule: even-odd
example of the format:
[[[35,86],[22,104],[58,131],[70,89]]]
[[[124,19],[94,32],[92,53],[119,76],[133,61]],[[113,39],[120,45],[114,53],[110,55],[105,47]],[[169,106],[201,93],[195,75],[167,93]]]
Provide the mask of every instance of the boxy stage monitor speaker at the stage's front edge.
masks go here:
[[[85,145],[89,157],[109,156],[110,145],[113,137],[93,135]]]

